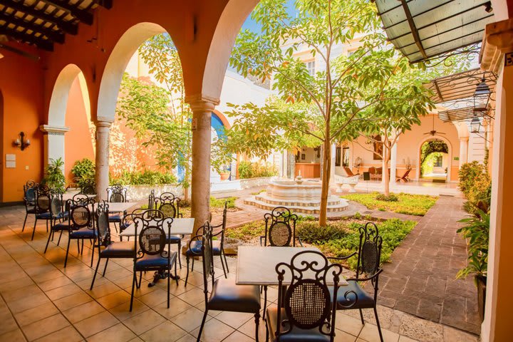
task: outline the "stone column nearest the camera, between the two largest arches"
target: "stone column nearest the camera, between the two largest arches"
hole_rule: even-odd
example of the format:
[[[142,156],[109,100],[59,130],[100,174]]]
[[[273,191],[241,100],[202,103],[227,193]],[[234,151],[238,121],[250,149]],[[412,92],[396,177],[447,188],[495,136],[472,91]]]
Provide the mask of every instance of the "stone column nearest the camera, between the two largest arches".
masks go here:
[[[195,230],[209,218],[211,118],[214,101],[190,102],[192,109],[191,217]]]

